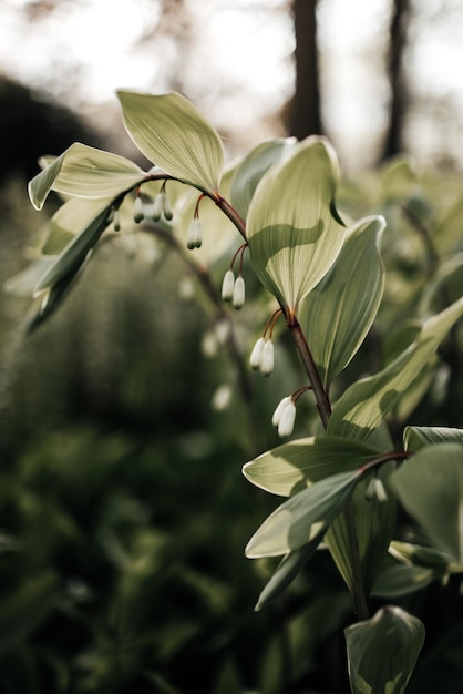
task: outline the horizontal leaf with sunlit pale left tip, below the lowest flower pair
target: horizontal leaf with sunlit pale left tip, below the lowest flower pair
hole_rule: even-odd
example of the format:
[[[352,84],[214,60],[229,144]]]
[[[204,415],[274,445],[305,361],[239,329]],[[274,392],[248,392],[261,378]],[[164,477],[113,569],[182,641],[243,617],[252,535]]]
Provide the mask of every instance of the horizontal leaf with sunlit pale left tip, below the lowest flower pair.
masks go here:
[[[340,437],[309,437],[278,446],[243,467],[253,484],[289,497],[315,482],[353,471],[378,456],[378,450]]]

